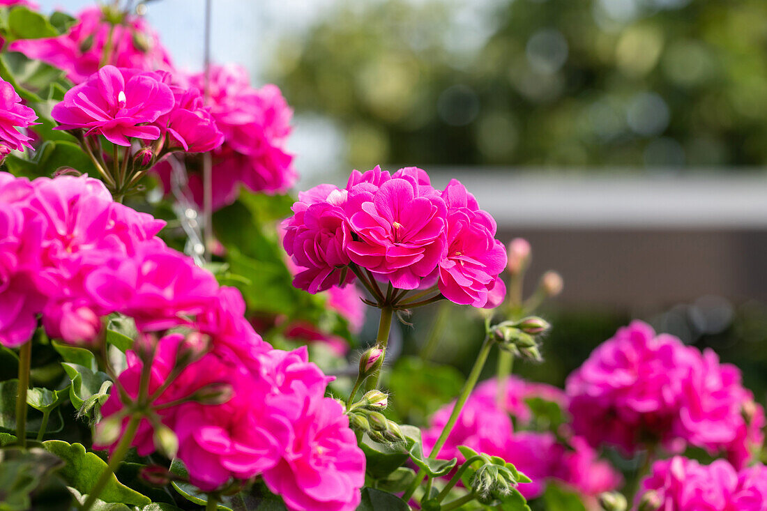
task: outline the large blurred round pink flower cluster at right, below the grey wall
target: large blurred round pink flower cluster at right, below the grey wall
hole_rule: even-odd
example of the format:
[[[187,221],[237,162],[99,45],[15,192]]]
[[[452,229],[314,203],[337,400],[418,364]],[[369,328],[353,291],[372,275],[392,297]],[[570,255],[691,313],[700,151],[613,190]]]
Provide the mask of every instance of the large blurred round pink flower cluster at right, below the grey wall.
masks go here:
[[[594,447],[634,453],[653,442],[671,451],[691,444],[723,452],[739,467],[763,441],[764,410],[742,387],[738,368],[641,321],[597,348],[566,391],[573,428]]]

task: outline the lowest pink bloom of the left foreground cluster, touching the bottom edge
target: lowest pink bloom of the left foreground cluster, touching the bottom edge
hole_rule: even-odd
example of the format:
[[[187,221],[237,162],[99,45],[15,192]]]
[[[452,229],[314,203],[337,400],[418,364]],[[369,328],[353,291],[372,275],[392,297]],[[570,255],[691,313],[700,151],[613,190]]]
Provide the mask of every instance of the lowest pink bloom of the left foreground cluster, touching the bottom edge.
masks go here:
[[[365,456],[344,407],[330,397],[307,396],[295,411],[293,440],[277,465],[265,471],[266,485],[292,511],[357,509]]]

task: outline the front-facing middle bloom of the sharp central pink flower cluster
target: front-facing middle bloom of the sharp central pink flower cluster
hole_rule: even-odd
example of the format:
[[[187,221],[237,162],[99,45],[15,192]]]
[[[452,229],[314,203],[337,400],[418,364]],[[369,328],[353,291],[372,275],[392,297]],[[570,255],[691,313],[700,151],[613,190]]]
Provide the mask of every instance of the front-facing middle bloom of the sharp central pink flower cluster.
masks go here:
[[[352,186],[344,209],[356,235],[346,243],[352,261],[400,289],[418,288],[436,274],[447,208],[430,185],[400,170],[378,188]]]

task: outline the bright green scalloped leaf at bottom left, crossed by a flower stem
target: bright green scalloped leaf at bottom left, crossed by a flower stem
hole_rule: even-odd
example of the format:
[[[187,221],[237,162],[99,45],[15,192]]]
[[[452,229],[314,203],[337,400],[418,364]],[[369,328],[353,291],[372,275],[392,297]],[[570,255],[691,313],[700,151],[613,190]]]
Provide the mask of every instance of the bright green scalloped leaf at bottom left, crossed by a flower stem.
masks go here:
[[[43,442],[43,447],[67,462],[61,469],[61,476],[80,493],[90,492],[101,473],[107,468],[104,460],[94,453],[86,452],[85,447],[80,443],[69,444],[61,440],[48,440]],[[104,490],[99,493],[99,499],[106,503],[125,503],[133,506],[146,506],[151,502],[146,496],[120,483],[114,475],[110,477]]]

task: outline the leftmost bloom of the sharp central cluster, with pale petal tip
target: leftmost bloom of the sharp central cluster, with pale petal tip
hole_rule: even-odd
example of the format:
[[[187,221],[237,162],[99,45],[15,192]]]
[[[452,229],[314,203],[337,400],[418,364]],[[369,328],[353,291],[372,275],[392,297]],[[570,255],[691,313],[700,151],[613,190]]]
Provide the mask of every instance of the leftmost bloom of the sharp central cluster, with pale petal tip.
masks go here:
[[[354,279],[347,272],[339,282],[341,269],[350,262],[346,247],[351,243],[351,229],[344,213],[345,192],[328,191],[323,201],[313,201],[312,192],[299,195],[293,205],[294,215],[285,220],[282,246],[299,268],[293,285],[312,294]]]

